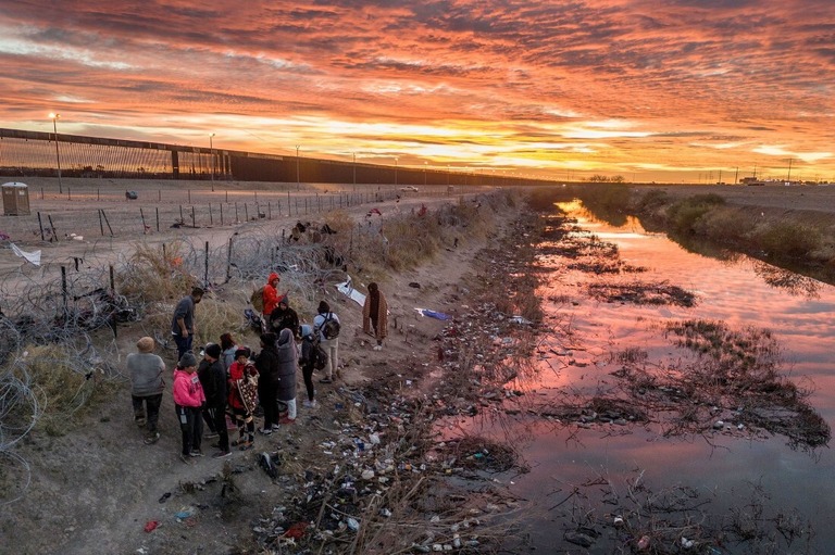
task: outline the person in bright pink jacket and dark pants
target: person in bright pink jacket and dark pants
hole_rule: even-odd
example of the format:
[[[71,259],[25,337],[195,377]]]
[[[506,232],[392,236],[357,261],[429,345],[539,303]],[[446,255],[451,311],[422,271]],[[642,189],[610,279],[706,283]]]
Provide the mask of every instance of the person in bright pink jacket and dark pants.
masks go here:
[[[191,464],[191,457],[200,456],[203,434],[203,419],[200,409],[205,404],[205,394],[197,376],[197,358],[186,353],[174,368],[174,409],[183,433],[180,461]]]

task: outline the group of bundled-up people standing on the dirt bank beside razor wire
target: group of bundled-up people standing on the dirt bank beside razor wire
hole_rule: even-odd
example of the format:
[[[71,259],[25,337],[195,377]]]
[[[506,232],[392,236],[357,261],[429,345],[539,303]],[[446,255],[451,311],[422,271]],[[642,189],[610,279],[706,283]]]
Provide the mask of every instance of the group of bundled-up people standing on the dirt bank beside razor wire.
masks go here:
[[[269,330],[260,336],[260,352],[238,345],[230,333],[224,333],[220,343],[203,346],[198,357],[192,351],[196,332],[195,307],[204,291],[195,287],[182,299],[172,317],[171,333],[177,345],[177,364],[173,374],[173,398],[182,431],[180,458],[191,463],[203,456],[203,438],[217,438],[214,458],[225,458],[232,447],[252,449],[256,441],[256,412],[263,411],[263,425],[258,432],[271,434],[281,426],[292,425],[298,414],[296,405],[296,375],[301,368],[307,399],[306,407],[315,407],[313,373],[320,366],[325,375],[322,383],[339,377],[338,329],[339,317],[326,301],[317,307],[312,326],[300,325],[296,311],[290,308],[287,293],[278,293],[281,277],[273,273],[263,288],[264,316]],[[376,283],[369,285],[363,306],[363,330],[372,333],[382,349],[387,330],[387,304]],[[334,329],[336,331],[334,331]],[[301,345],[297,345],[297,339]],[[132,381],[132,403],[135,422],[146,429],[145,443],[153,444],[160,438],[158,421],[165,389],[165,363],[153,353],[155,344],[150,337],[136,343],[137,353],[127,356]],[[324,354],[320,354],[324,353]],[[321,365],[326,358],[327,364]],[[227,416],[234,421],[237,438],[229,440]],[[203,427],[208,431],[203,432]]]

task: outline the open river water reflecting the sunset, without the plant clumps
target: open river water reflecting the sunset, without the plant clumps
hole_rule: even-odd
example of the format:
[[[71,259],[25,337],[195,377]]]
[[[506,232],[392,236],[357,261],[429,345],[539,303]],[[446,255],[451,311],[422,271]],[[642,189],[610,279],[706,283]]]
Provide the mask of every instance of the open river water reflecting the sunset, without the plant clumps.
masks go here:
[[[788,548],[785,543],[773,551],[724,545],[713,553],[835,553],[835,527],[830,525],[835,516],[835,454],[828,447],[809,453],[789,449],[785,437],[752,439],[720,432],[707,439],[664,438],[655,425],[565,427],[536,414],[536,407],[556,403],[566,391],[585,395],[612,387],[610,373],[620,366],[612,361],[613,353],[638,348],[649,354],[648,362],[659,364],[687,356],[664,338],[664,324],[706,318],[734,328],[771,330],[784,350],[784,371],[798,384],[813,387],[811,404],[832,426],[835,288],[747,257],[723,262],[688,253],[664,236],[646,232],[636,220],[614,228],[594,220],[578,205],[564,207],[579,217],[583,229],[615,243],[625,263],[646,272],[597,276],[566,269],[565,258],[544,256],[543,264],[551,268],[541,290],[548,299],[544,301],[547,321],[561,331],[543,338],[537,371],[509,384],[525,391],[522,404],[532,411],[456,422],[470,433],[519,446],[531,471],[497,478],[523,500],[533,546],[538,553],[621,553],[615,551],[616,542],[606,543],[602,538],[586,551],[566,543],[563,532],[574,529],[587,510],[599,521],[611,521],[613,515],[607,512],[615,505],[600,503],[612,495],[603,493],[609,488],[583,484],[605,478],[623,505],[627,482],[640,477],[640,483],[656,495],[686,489],[697,492],[710,502],[701,509],[714,522],[727,525],[734,510],[745,512],[746,504],[757,500],[755,504],[763,502],[762,519],[795,515],[810,522],[814,532],[811,541],[805,538]],[[612,279],[666,281],[696,293],[697,304],[636,306],[598,302],[583,292],[588,282]],[[566,329],[571,336],[565,336]]]

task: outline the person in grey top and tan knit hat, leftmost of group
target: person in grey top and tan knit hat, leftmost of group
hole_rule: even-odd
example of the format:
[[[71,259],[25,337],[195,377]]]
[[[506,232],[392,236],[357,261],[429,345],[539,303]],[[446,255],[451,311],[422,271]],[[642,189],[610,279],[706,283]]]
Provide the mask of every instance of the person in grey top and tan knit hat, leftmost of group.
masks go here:
[[[148,445],[157,443],[157,440],[160,439],[157,421],[160,416],[162,393],[165,390],[165,381],[162,378],[165,363],[160,356],[153,354],[153,339],[144,337],[136,342],[136,349],[139,352],[127,355],[134,421],[140,428],[147,422],[145,443]]]

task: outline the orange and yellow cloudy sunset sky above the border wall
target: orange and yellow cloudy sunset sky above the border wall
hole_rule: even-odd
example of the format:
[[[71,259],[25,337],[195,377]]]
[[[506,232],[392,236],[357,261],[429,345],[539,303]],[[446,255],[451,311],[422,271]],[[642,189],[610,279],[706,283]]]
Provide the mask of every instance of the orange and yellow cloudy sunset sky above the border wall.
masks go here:
[[[0,0],[0,127],[577,180],[835,181],[833,0]]]

